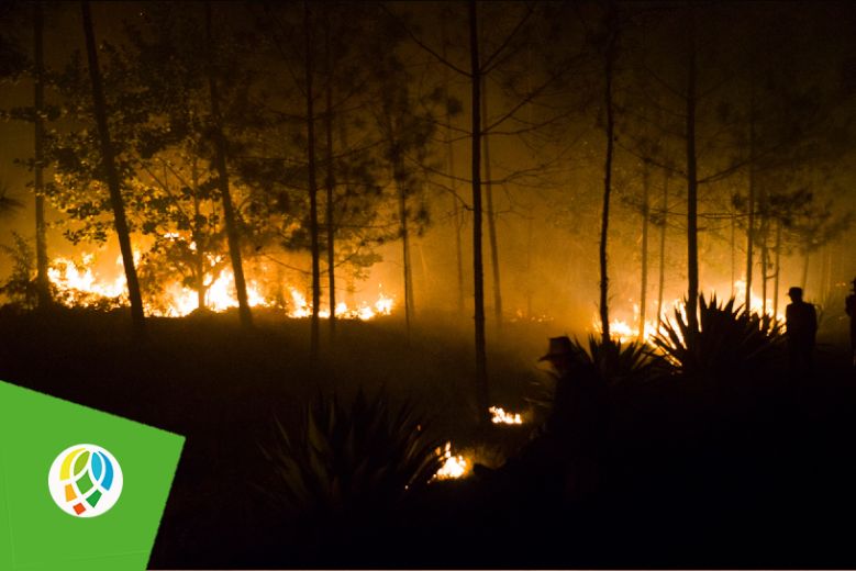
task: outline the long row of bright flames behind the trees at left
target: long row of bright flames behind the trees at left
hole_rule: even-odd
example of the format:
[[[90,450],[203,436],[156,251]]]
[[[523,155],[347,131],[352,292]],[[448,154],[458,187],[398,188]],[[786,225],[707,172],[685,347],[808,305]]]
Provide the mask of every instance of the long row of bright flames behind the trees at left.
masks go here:
[[[57,300],[69,307],[99,307],[112,309],[127,304],[127,292],[124,273],[119,273],[113,279],[107,279],[95,270],[95,256],[82,254],[79,261],[69,258],[56,257],[48,270],[48,279],[56,288]],[[121,258],[118,260],[121,265]],[[287,287],[290,295],[282,303],[263,293],[264,284],[248,280],[247,301],[251,307],[284,309],[291,318],[303,318],[312,315],[312,304],[293,287]],[[221,313],[232,307],[237,307],[235,294],[234,275],[225,269],[220,272],[205,289],[204,307],[209,311]],[[377,300],[369,304],[359,302],[355,306],[348,306],[344,302],[336,304],[335,315],[341,320],[368,321],[379,315],[391,315],[394,300],[382,291]],[[184,317],[199,309],[199,294],[197,291],[174,281],[163,287],[157,299],[149,299],[144,303],[145,313],[157,317]],[[330,310],[322,307],[319,311],[321,318],[330,317]]]

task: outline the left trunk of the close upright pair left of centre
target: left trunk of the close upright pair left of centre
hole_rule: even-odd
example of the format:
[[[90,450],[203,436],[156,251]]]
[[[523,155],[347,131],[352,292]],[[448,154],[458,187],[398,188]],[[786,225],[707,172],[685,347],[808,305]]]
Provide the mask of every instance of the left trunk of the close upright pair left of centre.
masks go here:
[[[315,112],[312,93],[312,34],[309,0],[303,0],[303,40],[305,48],[307,80],[307,163],[309,169],[309,232],[312,253],[312,318],[310,334],[310,360],[315,362],[319,357],[319,306],[321,305],[321,250],[319,246],[318,223],[318,182],[315,166]]]

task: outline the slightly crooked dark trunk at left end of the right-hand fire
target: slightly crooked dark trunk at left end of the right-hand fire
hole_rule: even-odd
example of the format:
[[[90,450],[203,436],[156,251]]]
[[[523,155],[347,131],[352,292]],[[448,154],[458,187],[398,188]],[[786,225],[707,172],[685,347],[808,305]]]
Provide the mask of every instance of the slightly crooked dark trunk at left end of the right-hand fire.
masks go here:
[[[615,18],[615,3],[611,2],[610,7],[610,20],[611,24],[614,23]],[[607,109],[607,156],[603,164],[603,212],[600,225],[600,323],[601,323],[601,336],[602,342],[607,345],[610,342],[610,327],[609,327],[609,275],[607,268],[607,240],[609,237],[609,209],[610,209],[610,194],[612,192],[612,154],[613,154],[613,139],[615,131],[615,119],[613,116],[612,105],[612,76],[613,66],[615,59],[615,42],[618,36],[618,30],[609,31],[609,44],[607,46],[605,54],[605,90],[603,103]]]

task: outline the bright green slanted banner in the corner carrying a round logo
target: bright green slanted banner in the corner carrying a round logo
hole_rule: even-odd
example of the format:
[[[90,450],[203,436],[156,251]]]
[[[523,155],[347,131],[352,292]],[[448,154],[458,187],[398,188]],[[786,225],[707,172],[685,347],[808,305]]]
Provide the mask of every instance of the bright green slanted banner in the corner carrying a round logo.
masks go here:
[[[0,571],[141,571],[185,438],[0,382]]]

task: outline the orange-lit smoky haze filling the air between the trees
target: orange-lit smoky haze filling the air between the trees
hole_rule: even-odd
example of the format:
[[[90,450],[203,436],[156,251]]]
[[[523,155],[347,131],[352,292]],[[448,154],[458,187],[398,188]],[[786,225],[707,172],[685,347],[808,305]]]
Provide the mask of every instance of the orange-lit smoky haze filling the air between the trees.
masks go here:
[[[254,25],[264,13],[257,5],[216,7],[222,10],[219,25],[224,30],[231,26],[229,33],[236,34]],[[130,44],[122,22],[145,25],[145,14],[159,9],[145,3],[97,3],[93,8],[99,40],[125,47]],[[656,3],[623,8],[626,21],[622,23],[615,77],[618,125],[608,248],[609,300],[613,318],[637,327],[643,256],[647,258],[648,320],[656,320],[660,264],[665,268],[664,306],[670,307],[687,291],[687,199],[681,134],[686,66],[682,40],[676,32],[681,30],[686,14]],[[602,53],[597,37],[597,29],[602,24],[601,7],[547,3],[529,16],[529,8],[516,3],[488,2],[480,9],[482,53],[487,57],[496,49],[502,51],[501,57],[490,61],[482,109],[482,121],[490,126],[483,137],[489,155],[483,155],[487,165],[482,167],[482,193],[490,187],[501,318],[542,322],[556,333],[585,335],[598,326],[601,279],[597,259],[605,148]],[[347,4],[343,10],[348,10]],[[852,12],[834,3],[787,7],[769,3],[751,8],[714,3],[699,8],[699,90],[704,93],[698,111],[699,163],[700,177],[710,177],[701,184],[699,194],[703,293],[741,295],[733,282],[746,278],[746,210],[741,200],[745,202],[751,169],[757,169],[755,176],[764,187],[758,192],[810,191],[813,197],[810,219],[843,219],[856,205],[854,173],[849,168],[852,134],[842,126],[849,124],[847,117],[853,112],[852,92],[848,94],[842,86],[842,74],[852,66],[848,61],[855,53],[848,40],[851,34],[845,31],[852,22]],[[286,11],[282,18],[288,22],[299,15]],[[440,61],[445,58],[451,65],[466,69],[466,5],[445,3],[397,3],[359,14],[364,19],[391,16],[408,30],[396,40],[394,49],[407,72],[415,110],[431,108],[434,125],[425,148],[411,149],[408,156],[414,177],[410,213],[424,209],[424,216],[411,226],[409,246],[416,324],[432,322],[434,313],[466,324],[474,314],[470,85],[466,77]],[[175,18],[178,16],[177,12]],[[742,23],[731,25],[738,16]],[[518,30],[515,26],[521,21],[524,25]],[[29,32],[12,29],[11,19],[7,22],[4,32],[9,37],[29,46],[32,40]],[[344,36],[354,33],[344,20],[334,20],[334,26],[340,26]],[[759,38],[760,26],[776,32]],[[82,47],[78,30],[79,14],[70,7],[60,5],[48,12],[45,35],[48,68],[60,70],[69,54]],[[246,61],[256,71],[255,94],[268,97],[271,108],[299,113],[300,82],[288,85],[297,76],[284,79],[296,60],[284,64],[276,49],[260,40],[262,35],[252,41],[262,42],[263,48],[257,49],[255,59]],[[509,37],[510,42],[505,43]],[[289,49],[299,53],[296,46]],[[347,65],[367,65],[365,56],[343,54],[343,61],[347,63],[348,58],[356,61]],[[782,59],[788,60],[788,69],[782,70]],[[104,56],[102,65],[109,69],[111,59]],[[319,83],[323,85],[321,71],[316,72]],[[282,85],[287,87],[279,93],[270,92],[271,87]],[[9,81],[3,89],[2,105],[7,109],[26,105],[31,89],[32,82],[25,74]],[[454,103],[437,104],[437,99],[432,99],[437,91]],[[751,99],[757,102],[758,117],[753,121],[757,122],[763,147],[757,154],[766,161],[757,167],[749,166],[747,149]],[[48,101],[62,104],[63,98],[56,89],[48,90]],[[321,94],[316,97],[316,105],[323,107]],[[807,108],[811,108],[811,112],[807,111],[811,116],[801,120],[802,123],[782,126],[782,117],[788,113]],[[451,110],[448,115],[446,110]],[[318,126],[322,130],[321,120]],[[69,117],[54,126],[60,133],[78,127]],[[288,128],[297,133],[302,127],[294,123]],[[793,132],[782,133],[786,128]],[[0,175],[12,195],[25,203],[25,209],[2,220],[2,239],[10,244],[10,231],[27,237],[33,235],[32,193],[27,189],[32,175],[13,164],[14,159],[26,160],[32,155],[32,130],[21,121],[8,121],[2,130],[5,144],[0,150]],[[300,160],[304,141],[299,133],[296,136],[297,145],[289,153]],[[374,223],[391,234],[382,244],[376,242],[368,246],[379,258],[363,268],[362,276],[354,277],[344,266],[337,269],[337,298],[370,301],[378,291],[383,291],[394,298],[396,311],[402,311],[404,264],[396,231],[396,189],[388,172],[380,172],[377,183],[388,198],[370,206],[382,213]],[[288,192],[293,195],[304,192],[300,187],[305,182],[296,180],[289,184]],[[668,210],[664,215],[666,184]],[[244,198],[254,192],[252,184],[240,175],[234,186]],[[645,186],[648,187],[648,227],[647,249],[643,254]],[[323,197],[320,200],[323,203]],[[105,245],[87,240],[69,244],[63,231],[79,225],[80,221],[69,221],[56,208],[56,201],[51,204],[47,214],[54,224],[48,233],[51,255],[75,258],[84,251],[97,253],[96,275],[107,281],[114,280],[121,273],[114,238],[108,236]],[[302,215],[292,214],[294,220]],[[493,327],[497,298],[489,216],[485,212],[482,251],[486,314]],[[766,233],[764,239],[770,251],[769,259],[761,261],[760,246],[755,247],[753,291],[760,295],[759,280],[764,273],[768,277],[766,296],[772,300],[777,296],[772,276],[778,275],[775,283],[779,312],[786,303],[788,287],[802,284],[807,296],[820,302],[847,282],[856,266],[853,249],[847,247],[854,237],[851,226],[844,225],[843,232],[829,238],[820,236],[824,229],[819,226],[812,237],[811,231],[797,227],[810,226],[796,220],[797,216],[776,219],[785,221],[785,236],[778,245],[774,244],[778,224],[774,219],[755,231]],[[664,224],[666,238],[660,255]],[[134,235],[141,249],[144,244],[151,244],[149,238],[140,233]],[[246,236],[245,242],[251,279],[285,281],[310,296],[311,258],[304,245],[284,250],[276,238]],[[778,265],[774,261],[774,249],[778,251]],[[803,277],[807,254],[808,279]],[[0,271],[7,276],[11,271],[11,258],[4,256],[0,264]],[[760,264],[767,264],[766,268]],[[262,270],[258,265],[267,269]],[[254,266],[258,267],[254,269]],[[279,270],[275,271],[273,268],[277,267]],[[321,286],[322,300],[326,295],[325,279]]]

